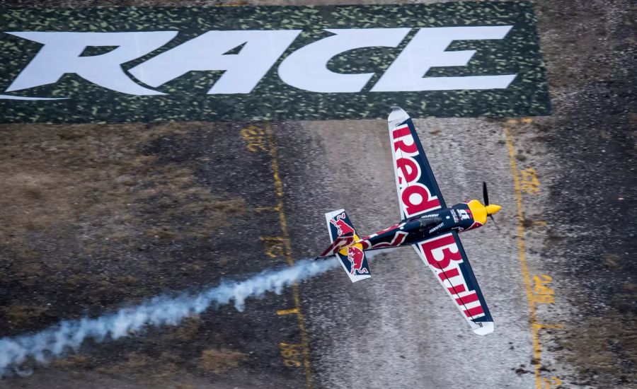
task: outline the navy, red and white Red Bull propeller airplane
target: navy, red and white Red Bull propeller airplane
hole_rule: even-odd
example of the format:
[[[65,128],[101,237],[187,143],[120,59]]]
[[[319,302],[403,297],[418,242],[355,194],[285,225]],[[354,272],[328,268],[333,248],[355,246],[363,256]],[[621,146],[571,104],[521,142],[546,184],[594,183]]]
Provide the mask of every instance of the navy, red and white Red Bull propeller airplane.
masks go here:
[[[389,138],[402,220],[360,238],[344,209],[325,214],[331,245],[316,260],[337,257],[352,282],[372,277],[365,252],[412,245],[454,305],[478,335],[494,323],[458,233],[483,226],[502,207],[477,199],[447,207],[411,117],[398,107],[389,114]]]

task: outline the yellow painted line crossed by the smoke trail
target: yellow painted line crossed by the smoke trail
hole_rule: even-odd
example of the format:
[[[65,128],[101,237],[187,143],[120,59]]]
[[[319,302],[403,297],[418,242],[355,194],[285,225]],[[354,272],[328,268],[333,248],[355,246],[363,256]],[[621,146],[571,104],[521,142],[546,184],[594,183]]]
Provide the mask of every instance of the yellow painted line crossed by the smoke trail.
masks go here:
[[[287,265],[293,266],[294,260],[292,259],[292,247],[289,243],[289,233],[287,231],[287,219],[285,218],[285,211],[283,210],[283,184],[279,176],[279,161],[277,155],[277,144],[272,134],[272,127],[270,124],[265,126],[265,136],[268,139],[268,149],[270,149],[270,160],[272,168],[272,176],[274,177],[275,193],[277,194],[277,209],[279,213],[279,222],[281,224],[281,232],[283,234],[283,246],[285,248],[284,255]],[[312,371],[309,364],[309,340],[307,332],[305,330],[305,319],[301,312],[301,297],[299,296],[299,284],[292,285],[292,296],[294,298],[294,309],[297,310],[297,318],[299,319],[299,332],[301,335],[301,347],[303,352],[303,366],[305,369],[305,386],[307,389],[312,388]],[[279,311],[280,312],[280,311]],[[278,313],[278,312],[277,312]]]

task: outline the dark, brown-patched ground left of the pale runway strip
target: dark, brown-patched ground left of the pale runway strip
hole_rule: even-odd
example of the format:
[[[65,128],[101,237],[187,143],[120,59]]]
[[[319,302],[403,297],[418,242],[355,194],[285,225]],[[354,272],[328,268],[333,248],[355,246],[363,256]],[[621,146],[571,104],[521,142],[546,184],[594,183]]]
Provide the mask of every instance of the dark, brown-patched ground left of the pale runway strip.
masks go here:
[[[276,201],[270,156],[246,149],[241,128],[3,126],[0,333],[29,334],[285,265],[264,254],[261,239],[280,233],[278,215],[255,210]],[[27,361],[22,368],[33,368],[33,378],[11,376],[0,386],[47,387],[47,374],[60,385],[73,382],[69,387],[95,377],[104,387],[130,388],[258,381],[272,376],[279,342],[294,335],[294,328],[270,325],[279,304],[291,304],[287,298],[275,296],[275,306],[261,301],[249,315],[221,307],[174,327],[87,339],[49,368]],[[285,387],[277,382],[288,373],[275,374],[270,386]]]

